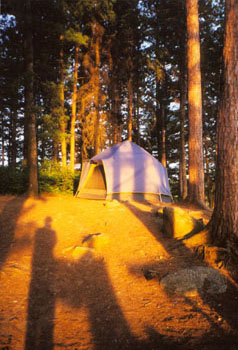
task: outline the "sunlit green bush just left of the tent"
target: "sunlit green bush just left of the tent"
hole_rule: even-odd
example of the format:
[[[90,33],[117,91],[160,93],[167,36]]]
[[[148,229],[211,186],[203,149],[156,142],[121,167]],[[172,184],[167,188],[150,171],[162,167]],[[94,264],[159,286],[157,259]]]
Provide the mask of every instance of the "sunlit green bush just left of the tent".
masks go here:
[[[39,169],[40,192],[74,193],[80,173],[73,174],[68,168],[53,161],[44,161]]]

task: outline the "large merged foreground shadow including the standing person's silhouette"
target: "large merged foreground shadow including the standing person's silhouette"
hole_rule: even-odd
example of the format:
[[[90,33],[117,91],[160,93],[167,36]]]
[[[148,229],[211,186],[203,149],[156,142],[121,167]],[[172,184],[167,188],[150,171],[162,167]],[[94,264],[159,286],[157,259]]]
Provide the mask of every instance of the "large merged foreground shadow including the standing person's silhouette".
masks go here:
[[[176,345],[150,328],[146,330],[146,340],[133,334],[102,256],[95,256],[89,248],[76,261],[56,259],[55,245],[56,232],[47,217],[44,227],[35,233],[25,350],[54,349],[56,300],[74,309],[86,308],[95,350],[151,350],[157,349],[158,344],[165,350]],[[66,332],[67,328],[65,336]],[[77,339],[77,334],[73,337]]]

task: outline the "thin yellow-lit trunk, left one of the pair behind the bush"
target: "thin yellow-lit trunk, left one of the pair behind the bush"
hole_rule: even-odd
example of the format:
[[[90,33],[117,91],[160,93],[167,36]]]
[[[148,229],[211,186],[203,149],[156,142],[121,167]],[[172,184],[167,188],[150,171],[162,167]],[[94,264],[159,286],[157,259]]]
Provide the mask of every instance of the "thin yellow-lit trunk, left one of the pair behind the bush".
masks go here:
[[[64,114],[64,52],[63,52],[63,35],[60,36],[61,49],[60,49],[60,105],[61,105],[61,117],[60,117],[60,131],[61,131],[61,161],[62,167],[67,165],[67,143],[66,143],[66,121]]]

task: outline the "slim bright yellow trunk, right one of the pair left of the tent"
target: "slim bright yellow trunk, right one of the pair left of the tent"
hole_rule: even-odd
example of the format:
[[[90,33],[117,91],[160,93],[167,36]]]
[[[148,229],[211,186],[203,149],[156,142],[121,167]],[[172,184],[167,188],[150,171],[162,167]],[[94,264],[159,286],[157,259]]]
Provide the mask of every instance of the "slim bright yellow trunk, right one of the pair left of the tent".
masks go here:
[[[75,64],[74,64],[74,85],[72,95],[72,116],[70,126],[70,170],[74,172],[75,164],[75,121],[76,121],[76,103],[77,103],[77,81],[78,81],[78,59],[79,47],[75,47]]]

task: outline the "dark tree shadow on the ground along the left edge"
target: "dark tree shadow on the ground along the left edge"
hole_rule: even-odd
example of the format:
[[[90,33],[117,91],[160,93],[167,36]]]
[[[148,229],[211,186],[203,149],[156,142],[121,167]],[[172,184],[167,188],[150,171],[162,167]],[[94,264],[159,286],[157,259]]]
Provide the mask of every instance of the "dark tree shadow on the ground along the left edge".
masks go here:
[[[14,197],[8,200],[0,214],[0,270],[4,265],[14,241],[17,221],[22,213],[27,197]],[[27,209],[30,210],[30,209]]]

